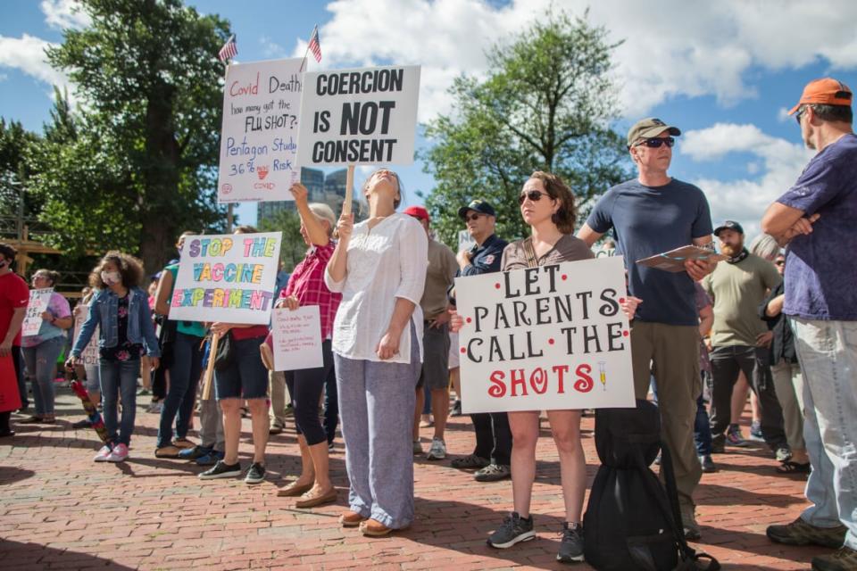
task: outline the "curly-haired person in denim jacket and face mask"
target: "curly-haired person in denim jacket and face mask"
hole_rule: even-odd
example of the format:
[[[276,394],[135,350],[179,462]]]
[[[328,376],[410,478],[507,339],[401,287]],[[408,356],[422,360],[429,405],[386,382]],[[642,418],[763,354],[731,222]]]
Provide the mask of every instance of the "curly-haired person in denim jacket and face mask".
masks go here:
[[[89,317],[71,348],[67,367],[82,364],[80,354],[100,327],[98,352],[104,425],[109,442],[96,454],[96,462],[121,462],[128,458],[134,417],[137,413],[137,374],[140,356],[146,353],[152,368],[158,367],[161,350],[154,335],[152,312],[146,292],[139,288],[143,278],[140,262],[128,254],[107,252],[89,275],[96,290],[89,302]],[[117,434],[117,401],[121,392],[122,418]]]

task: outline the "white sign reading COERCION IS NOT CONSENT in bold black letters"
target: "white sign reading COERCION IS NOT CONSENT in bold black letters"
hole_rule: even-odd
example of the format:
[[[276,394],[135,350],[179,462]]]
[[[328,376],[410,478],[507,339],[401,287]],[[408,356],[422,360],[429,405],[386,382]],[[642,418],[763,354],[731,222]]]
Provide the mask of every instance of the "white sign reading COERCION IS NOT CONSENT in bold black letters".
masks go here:
[[[419,95],[420,66],[305,74],[298,164],[411,164]]]

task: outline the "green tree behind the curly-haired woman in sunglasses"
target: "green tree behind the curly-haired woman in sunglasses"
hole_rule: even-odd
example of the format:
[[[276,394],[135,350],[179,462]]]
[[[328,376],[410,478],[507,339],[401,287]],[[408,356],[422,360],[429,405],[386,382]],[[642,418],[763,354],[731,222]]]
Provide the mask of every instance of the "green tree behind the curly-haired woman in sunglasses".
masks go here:
[[[487,79],[456,79],[454,112],[428,123],[424,153],[437,186],[427,197],[440,237],[457,243],[458,208],[482,197],[497,210],[500,236],[528,235],[517,196],[534,170],[560,175],[583,216],[597,194],[629,178],[610,77],[615,44],[607,31],[549,13],[488,54]]]

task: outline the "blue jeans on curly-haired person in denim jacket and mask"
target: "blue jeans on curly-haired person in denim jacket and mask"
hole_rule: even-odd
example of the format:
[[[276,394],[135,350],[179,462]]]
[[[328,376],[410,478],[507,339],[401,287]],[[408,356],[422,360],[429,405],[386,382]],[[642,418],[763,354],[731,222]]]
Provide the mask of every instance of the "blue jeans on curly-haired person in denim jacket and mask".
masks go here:
[[[104,402],[104,427],[112,444],[131,443],[137,416],[137,375],[140,360],[101,360],[101,398]],[[122,395],[122,419],[117,432],[118,401]]]

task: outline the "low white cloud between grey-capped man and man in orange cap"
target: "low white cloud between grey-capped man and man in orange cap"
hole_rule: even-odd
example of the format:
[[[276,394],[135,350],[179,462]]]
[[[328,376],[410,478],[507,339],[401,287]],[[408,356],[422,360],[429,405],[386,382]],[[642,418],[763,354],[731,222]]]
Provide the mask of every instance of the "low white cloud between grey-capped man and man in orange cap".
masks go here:
[[[757,178],[723,181],[699,178],[693,181],[703,189],[711,205],[711,219],[737,220],[746,236],[760,232],[761,215],[770,203],[795,183],[813,152],[785,139],[771,137],[755,125],[717,123],[709,128],[683,134],[680,152],[694,161],[720,161],[729,153],[750,153],[748,171],[759,170]],[[730,161],[737,157],[729,157]],[[761,162],[759,169],[758,162]]]

